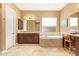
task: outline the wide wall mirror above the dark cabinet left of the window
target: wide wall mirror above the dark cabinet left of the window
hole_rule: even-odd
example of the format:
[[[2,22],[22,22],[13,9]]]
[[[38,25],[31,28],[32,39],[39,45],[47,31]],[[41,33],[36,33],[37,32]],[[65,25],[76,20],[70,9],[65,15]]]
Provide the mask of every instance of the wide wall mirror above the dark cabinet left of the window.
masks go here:
[[[40,22],[35,20],[24,20],[23,21],[23,31],[26,32],[39,32]]]

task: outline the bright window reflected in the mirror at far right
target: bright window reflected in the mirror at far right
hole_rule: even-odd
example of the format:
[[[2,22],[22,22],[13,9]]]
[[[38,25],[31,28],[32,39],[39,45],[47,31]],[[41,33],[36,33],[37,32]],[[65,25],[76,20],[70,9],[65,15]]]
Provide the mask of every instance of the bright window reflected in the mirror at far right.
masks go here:
[[[70,31],[71,32],[77,32],[78,27],[78,18],[77,17],[71,17],[70,18]]]

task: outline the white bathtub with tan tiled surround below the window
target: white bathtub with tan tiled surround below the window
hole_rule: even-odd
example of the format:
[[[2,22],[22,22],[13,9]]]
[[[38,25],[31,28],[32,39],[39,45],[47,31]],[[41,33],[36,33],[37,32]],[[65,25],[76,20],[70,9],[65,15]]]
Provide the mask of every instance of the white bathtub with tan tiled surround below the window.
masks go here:
[[[62,39],[63,39],[62,35],[44,35],[40,37],[40,46],[61,48],[63,47]]]

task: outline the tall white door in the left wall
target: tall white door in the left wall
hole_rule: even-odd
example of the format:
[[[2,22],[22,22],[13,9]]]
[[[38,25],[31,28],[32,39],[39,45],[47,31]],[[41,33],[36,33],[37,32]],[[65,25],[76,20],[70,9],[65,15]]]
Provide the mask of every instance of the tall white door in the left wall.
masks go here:
[[[6,20],[6,49],[11,48],[15,43],[15,12],[9,6],[5,8]]]

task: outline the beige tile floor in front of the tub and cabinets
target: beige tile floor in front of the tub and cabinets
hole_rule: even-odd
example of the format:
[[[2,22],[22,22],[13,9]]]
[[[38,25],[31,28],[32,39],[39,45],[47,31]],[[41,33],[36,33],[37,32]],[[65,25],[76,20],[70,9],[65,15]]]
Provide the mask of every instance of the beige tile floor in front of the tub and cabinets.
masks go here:
[[[17,44],[2,53],[1,56],[74,56],[64,48],[45,48],[38,44]]]

